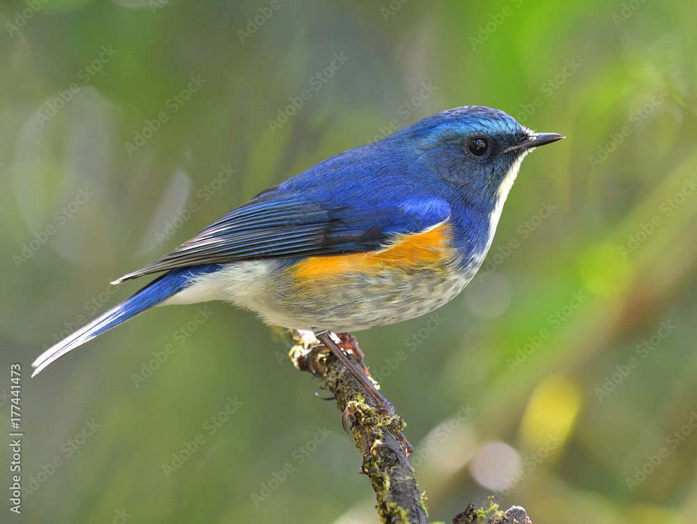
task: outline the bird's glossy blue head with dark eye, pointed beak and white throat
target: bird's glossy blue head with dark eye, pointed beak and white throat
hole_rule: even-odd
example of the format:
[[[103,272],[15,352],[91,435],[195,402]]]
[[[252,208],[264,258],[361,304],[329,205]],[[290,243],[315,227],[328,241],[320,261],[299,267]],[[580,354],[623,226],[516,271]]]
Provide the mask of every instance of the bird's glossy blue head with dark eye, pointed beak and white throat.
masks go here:
[[[404,129],[401,140],[418,149],[470,207],[500,212],[521,161],[535,147],[564,138],[535,133],[503,111],[470,105],[434,114]]]

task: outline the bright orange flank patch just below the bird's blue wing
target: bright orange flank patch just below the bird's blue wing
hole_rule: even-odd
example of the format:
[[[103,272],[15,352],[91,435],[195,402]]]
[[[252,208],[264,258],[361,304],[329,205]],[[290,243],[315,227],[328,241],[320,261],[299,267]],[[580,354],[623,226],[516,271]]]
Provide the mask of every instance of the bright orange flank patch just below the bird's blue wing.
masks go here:
[[[436,269],[451,257],[450,225],[441,224],[418,234],[399,234],[388,246],[367,253],[309,257],[293,265],[300,280],[339,277],[355,271],[376,274],[385,269]]]

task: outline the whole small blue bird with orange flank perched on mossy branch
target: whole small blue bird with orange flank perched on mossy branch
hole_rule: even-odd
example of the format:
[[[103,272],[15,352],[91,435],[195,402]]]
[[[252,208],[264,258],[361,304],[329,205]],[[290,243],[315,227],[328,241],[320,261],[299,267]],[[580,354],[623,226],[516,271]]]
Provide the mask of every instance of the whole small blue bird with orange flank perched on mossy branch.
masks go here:
[[[526,154],[561,138],[466,106],[327,158],[115,280],[162,274],[49,348],[34,375],[153,306],[229,301],[325,345],[429,313],[482,265]]]

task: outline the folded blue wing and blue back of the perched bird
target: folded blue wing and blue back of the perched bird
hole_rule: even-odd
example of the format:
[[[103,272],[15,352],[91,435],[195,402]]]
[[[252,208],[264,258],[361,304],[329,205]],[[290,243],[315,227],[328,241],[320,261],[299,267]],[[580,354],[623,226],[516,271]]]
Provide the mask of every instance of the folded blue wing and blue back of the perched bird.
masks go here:
[[[396,234],[419,233],[447,219],[445,199],[406,179],[412,166],[378,163],[382,157],[367,148],[329,158],[260,193],[115,283],[202,264],[376,250]]]

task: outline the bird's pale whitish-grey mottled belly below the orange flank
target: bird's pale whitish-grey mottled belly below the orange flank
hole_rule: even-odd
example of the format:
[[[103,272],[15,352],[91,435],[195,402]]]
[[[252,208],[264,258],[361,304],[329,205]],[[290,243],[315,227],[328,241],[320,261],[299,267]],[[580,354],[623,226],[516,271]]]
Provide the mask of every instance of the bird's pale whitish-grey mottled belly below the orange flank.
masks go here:
[[[430,313],[461,292],[472,276],[450,268],[420,274],[390,270],[299,286],[284,278],[282,267],[282,260],[227,264],[194,278],[192,285],[162,305],[224,300],[256,312],[268,324],[360,331]]]

